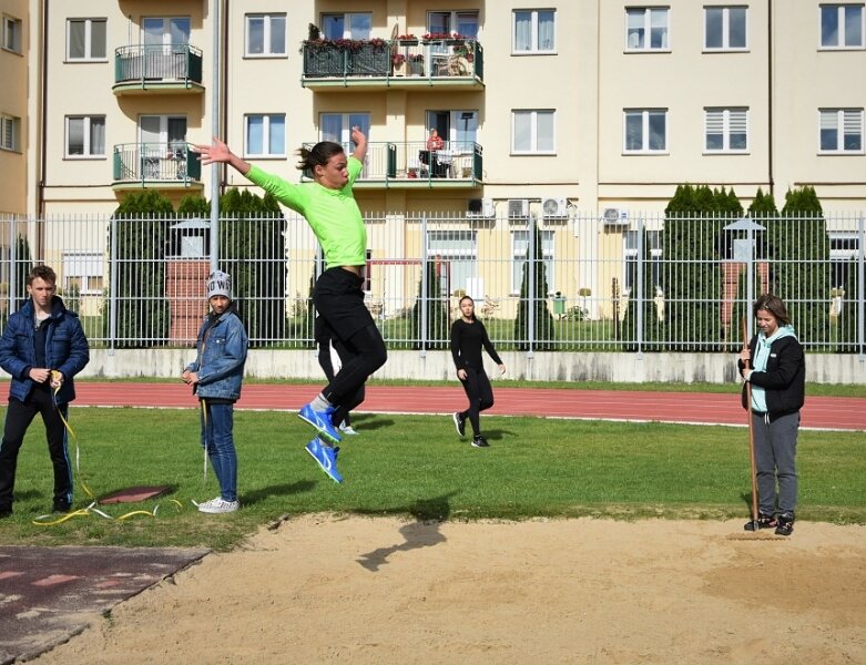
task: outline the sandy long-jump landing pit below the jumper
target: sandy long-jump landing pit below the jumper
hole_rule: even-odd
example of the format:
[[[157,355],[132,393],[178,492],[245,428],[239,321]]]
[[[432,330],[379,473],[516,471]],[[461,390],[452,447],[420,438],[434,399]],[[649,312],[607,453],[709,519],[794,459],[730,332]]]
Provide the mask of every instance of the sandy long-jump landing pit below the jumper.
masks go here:
[[[35,663],[866,663],[866,526],[304,516]]]

